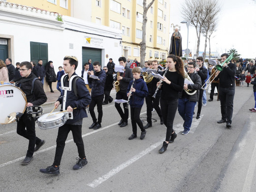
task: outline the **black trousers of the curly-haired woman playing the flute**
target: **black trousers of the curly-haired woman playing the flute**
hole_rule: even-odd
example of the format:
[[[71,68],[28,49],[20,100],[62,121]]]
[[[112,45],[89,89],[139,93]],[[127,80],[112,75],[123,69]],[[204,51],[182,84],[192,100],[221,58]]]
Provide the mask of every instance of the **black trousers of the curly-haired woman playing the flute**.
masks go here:
[[[165,141],[169,141],[171,138],[171,133],[173,132],[173,121],[178,108],[178,99],[165,100],[160,98],[160,106],[161,106],[163,124],[167,128]]]

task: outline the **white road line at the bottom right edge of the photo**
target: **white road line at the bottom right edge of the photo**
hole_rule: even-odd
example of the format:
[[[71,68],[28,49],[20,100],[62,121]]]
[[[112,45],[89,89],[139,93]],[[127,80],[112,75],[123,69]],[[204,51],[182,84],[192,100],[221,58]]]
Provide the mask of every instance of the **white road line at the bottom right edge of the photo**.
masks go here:
[[[251,122],[251,128],[255,128],[255,122]],[[253,184],[253,179],[254,179],[254,172],[255,172],[255,167],[256,167],[256,143],[254,146],[254,152],[250,160],[250,164],[248,167],[248,171],[245,177],[245,182],[244,182],[244,187],[242,192],[251,192],[251,186]]]

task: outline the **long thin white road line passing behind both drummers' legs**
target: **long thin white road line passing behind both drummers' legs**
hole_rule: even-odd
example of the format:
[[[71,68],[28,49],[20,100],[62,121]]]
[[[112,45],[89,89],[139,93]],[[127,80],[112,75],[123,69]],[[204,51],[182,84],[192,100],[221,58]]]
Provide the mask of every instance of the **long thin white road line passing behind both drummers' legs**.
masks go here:
[[[145,111],[145,112],[141,113],[140,115],[145,114],[145,113],[147,113],[147,112]],[[129,118],[129,119],[130,119],[130,118]],[[104,128],[96,129],[96,130],[94,130],[94,131],[92,131],[92,132],[88,132],[88,133],[86,133],[86,134],[83,134],[82,137],[91,135],[91,134],[93,134],[93,133],[96,133],[96,132],[98,132],[98,131],[104,130],[104,129],[106,129],[106,128],[113,127],[113,126],[115,126],[115,125],[118,125],[118,123],[119,123],[119,122],[114,123],[114,124],[111,124],[111,125],[106,126],[106,127],[104,127]],[[16,130],[15,130],[15,131],[16,131]],[[70,143],[71,141],[73,141],[73,139],[69,139],[69,140],[67,140],[65,143]],[[53,145],[53,146],[48,147],[48,148],[46,148],[46,149],[37,151],[37,152],[34,153],[34,155],[37,155],[37,154],[39,154],[39,153],[43,153],[43,152],[45,152],[45,151],[49,151],[49,150],[54,149],[54,148],[56,148],[56,145]],[[17,162],[17,161],[19,161],[19,160],[23,160],[25,157],[26,157],[26,156],[21,157],[21,158],[18,158],[18,159],[16,159],[16,160],[11,160],[11,161],[2,163],[2,164],[0,164],[0,168],[3,167],[3,166],[6,166],[6,165],[12,164],[12,163],[14,163],[14,162]]]

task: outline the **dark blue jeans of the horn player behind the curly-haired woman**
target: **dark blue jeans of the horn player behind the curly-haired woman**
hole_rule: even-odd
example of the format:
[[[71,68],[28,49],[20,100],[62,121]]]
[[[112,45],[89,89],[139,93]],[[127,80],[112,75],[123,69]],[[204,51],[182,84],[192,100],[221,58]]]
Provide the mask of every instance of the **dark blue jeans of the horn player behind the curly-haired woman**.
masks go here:
[[[179,98],[178,111],[184,120],[184,130],[190,130],[191,128],[195,103],[195,101],[190,101],[188,98]]]

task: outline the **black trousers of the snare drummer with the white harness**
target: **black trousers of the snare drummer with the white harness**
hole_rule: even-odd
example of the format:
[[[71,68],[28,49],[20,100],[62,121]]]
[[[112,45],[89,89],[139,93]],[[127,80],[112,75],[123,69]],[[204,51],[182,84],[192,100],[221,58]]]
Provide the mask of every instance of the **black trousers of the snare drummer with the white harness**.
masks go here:
[[[64,124],[59,128],[57,136],[57,147],[54,158],[54,165],[59,166],[61,164],[62,155],[65,147],[65,141],[69,131],[72,131],[74,142],[77,146],[79,158],[85,158],[85,148],[82,138],[82,126],[74,126],[70,124]]]

